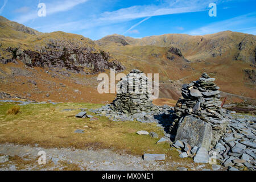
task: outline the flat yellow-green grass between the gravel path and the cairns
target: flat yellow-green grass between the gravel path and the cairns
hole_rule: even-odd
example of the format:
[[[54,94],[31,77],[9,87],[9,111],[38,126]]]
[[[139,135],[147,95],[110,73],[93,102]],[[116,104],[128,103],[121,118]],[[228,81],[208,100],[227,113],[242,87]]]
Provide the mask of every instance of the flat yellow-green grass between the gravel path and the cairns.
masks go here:
[[[166,154],[166,162],[181,162],[192,164],[192,158],[179,158],[177,151],[170,144],[156,144],[158,139],[149,135],[138,135],[138,130],[154,131],[163,137],[163,131],[156,123],[141,123],[137,121],[114,122],[106,117],[89,121],[89,118],[76,118],[79,108],[97,108],[102,105],[85,103],[64,104],[30,104],[20,106],[20,112],[9,115],[7,110],[15,104],[0,105],[0,143],[39,144],[41,147],[74,147],[80,149],[109,148],[119,154],[143,155]],[[63,109],[74,109],[63,111]],[[74,133],[76,129],[84,133]],[[197,166],[197,164],[193,164]]]

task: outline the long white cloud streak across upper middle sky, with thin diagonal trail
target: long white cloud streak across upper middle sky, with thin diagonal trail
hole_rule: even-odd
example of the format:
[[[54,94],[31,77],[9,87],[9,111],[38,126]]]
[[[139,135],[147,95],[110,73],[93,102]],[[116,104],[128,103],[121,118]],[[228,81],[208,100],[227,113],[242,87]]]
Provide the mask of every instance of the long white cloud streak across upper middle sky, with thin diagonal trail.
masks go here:
[[[98,26],[109,26],[110,24],[127,22],[129,20],[144,18],[140,22],[134,24],[124,33],[132,30],[134,27],[138,26],[145,20],[149,19],[152,16],[160,16],[160,15],[170,15],[170,14],[179,14],[179,13],[191,13],[197,11],[204,11],[208,9],[208,4],[212,0],[197,0],[197,1],[171,1],[173,2],[171,5],[167,5],[166,3],[156,5],[144,5],[144,6],[131,6],[115,11],[105,11],[100,15],[95,15],[91,19],[82,19],[74,22],[62,23],[62,24],[54,24],[47,25],[43,27],[34,27],[35,29],[39,29],[43,32],[50,31],[78,31],[78,30],[86,30],[88,28],[98,27]]]

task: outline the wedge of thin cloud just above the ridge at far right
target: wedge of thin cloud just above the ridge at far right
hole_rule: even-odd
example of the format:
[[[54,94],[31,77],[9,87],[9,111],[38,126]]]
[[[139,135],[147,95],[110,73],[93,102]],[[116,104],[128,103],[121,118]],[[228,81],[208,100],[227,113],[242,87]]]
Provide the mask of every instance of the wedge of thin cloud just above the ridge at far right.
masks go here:
[[[247,34],[254,34],[256,29],[256,12],[245,14],[241,16],[236,16],[234,18],[222,20],[220,22],[215,22],[208,24],[207,26],[203,26],[200,28],[196,28],[195,30],[191,30],[188,32],[184,32],[184,34],[189,35],[205,35],[205,34],[213,34],[220,31],[233,30],[233,31],[242,31]],[[238,27],[247,26],[247,24],[252,24],[254,27],[246,28],[246,30],[242,30]]]

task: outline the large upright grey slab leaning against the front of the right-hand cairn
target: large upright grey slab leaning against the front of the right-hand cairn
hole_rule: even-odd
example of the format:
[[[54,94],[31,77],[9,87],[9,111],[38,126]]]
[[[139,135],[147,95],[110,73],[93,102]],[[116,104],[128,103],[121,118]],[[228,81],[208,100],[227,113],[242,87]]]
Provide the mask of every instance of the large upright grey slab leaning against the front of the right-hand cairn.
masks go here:
[[[201,119],[191,115],[186,116],[177,129],[175,141],[177,140],[183,140],[192,147],[204,147],[209,150],[212,141],[212,127]]]

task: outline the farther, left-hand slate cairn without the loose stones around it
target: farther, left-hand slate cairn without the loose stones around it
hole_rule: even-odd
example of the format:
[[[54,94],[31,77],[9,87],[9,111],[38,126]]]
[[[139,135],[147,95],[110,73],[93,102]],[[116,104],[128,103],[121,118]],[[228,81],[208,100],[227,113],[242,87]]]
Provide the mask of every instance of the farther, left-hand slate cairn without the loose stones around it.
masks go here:
[[[121,78],[117,87],[117,97],[110,105],[112,110],[129,115],[158,110],[150,100],[148,78],[138,69],[133,69],[126,77]]]

